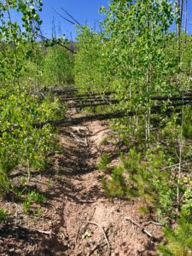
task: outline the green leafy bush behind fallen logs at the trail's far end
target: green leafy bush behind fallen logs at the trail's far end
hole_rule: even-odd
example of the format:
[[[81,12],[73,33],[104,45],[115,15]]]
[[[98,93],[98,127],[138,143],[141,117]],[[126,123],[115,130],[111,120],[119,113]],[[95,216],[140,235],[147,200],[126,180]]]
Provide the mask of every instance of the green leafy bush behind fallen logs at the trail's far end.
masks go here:
[[[82,91],[108,91],[109,77],[106,58],[102,53],[104,41],[89,26],[79,27],[79,50],[74,58],[74,79]]]

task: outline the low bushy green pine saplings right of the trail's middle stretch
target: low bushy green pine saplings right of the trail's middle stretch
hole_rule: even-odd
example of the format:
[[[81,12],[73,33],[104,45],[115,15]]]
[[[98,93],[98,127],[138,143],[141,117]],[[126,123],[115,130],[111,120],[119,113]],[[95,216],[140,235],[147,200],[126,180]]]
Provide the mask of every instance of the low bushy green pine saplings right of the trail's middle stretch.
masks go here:
[[[111,177],[102,180],[106,194],[140,197],[157,209],[160,215],[172,214],[176,189],[170,182],[171,173],[163,170],[164,153],[148,153],[142,159],[141,153],[131,148],[127,156],[120,156],[120,162],[120,167],[113,167]]]

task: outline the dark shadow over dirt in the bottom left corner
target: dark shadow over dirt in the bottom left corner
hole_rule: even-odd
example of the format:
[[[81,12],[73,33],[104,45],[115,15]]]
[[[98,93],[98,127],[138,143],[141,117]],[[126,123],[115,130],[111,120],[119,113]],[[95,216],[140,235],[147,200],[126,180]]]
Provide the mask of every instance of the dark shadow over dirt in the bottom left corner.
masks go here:
[[[67,250],[67,246],[62,241],[59,241],[56,234],[51,236],[44,235],[40,230],[30,230],[20,225],[15,225],[12,220],[4,222],[0,227],[1,255],[51,256]],[[34,247],[36,248],[35,252]]]

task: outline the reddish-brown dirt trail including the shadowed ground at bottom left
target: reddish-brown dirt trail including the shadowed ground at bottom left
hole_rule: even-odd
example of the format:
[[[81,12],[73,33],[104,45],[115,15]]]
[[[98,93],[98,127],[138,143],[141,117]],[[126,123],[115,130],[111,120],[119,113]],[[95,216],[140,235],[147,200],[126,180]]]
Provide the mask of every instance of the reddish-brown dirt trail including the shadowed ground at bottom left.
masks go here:
[[[32,185],[38,182],[37,189],[47,197],[41,217],[23,217],[16,204],[16,224],[9,223],[0,232],[0,255],[156,255],[154,242],[125,220],[148,220],[139,213],[142,203],[110,201],[102,191],[105,174],[97,169],[102,152],[113,154],[117,161],[113,144],[103,143],[106,137],[111,131],[100,121],[60,129],[63,154],[52,157],[47,173],[32,177]],[[13,203],[7,208],[15,212]],[[160,236],[154,224],[147,229]],[[50,235],[41,230],[51,231]]]

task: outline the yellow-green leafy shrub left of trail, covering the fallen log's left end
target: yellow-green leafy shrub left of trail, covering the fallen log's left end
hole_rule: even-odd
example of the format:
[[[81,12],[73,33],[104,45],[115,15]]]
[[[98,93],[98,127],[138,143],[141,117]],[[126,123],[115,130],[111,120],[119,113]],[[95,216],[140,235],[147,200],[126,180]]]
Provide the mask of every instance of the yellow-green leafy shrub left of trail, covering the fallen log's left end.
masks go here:
[[[58,100],[43,102],[26,92],[7,90],[7,96],[0,102],[0,191],[9,190],[11,172],[19,165],[30,178],[32,170],[44,170],[46,154],[55,148],[55,129],[34,125],[48,119],[60,118],[65,112]]]

